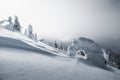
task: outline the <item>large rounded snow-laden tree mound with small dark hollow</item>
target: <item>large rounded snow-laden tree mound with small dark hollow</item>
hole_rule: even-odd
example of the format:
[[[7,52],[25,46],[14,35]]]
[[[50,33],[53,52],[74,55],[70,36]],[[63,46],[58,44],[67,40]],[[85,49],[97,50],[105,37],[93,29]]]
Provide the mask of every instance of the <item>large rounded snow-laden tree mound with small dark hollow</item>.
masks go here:
[[[67,53],[69,56],[79,56],[79,58],[83,59],[88,58],[90,62],[99,66],[105,65],[105,58],[103,57],[101,47],[93,40],[84,37],[75,39],[68,47]]]

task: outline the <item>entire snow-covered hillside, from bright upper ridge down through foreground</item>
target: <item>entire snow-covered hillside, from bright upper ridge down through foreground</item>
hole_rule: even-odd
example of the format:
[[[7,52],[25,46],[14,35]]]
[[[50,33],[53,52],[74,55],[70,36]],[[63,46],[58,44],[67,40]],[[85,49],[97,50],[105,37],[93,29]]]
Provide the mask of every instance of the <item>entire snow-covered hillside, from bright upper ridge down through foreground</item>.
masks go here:
[[[0,28],[0,80],[120,80],[119,75],[118,70],[86,65],[41,42]]]

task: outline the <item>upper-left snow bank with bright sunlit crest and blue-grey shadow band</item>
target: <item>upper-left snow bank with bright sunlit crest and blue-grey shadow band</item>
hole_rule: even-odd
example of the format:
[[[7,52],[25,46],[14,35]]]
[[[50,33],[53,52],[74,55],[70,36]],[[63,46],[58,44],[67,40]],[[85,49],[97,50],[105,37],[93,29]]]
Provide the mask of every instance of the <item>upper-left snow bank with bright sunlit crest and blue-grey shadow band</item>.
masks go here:
[[[40,42],[32,40],[19,32],[13,32],[0,27],[0,47],[11,47],[18,49],[31,50],[35,52],[43,52],[47,55],[62,55],[54,48]]]

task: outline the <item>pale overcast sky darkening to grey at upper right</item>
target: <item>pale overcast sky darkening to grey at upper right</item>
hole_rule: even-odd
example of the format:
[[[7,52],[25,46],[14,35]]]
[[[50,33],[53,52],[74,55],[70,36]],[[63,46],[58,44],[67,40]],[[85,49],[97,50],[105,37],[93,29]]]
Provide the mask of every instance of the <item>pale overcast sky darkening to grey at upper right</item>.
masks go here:
[[[0,0],[0,20],[13,15],[42,37],[120,38],[120,0]]]

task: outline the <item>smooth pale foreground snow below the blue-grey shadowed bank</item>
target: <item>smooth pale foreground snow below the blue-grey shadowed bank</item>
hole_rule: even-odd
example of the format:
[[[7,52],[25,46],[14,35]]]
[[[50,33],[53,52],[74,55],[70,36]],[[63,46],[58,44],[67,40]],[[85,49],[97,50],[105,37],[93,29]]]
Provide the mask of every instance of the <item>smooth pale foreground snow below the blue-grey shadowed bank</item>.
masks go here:
[[[1,80],[119,80],[119,74],[76,63],[76,59],[0,48]]]

